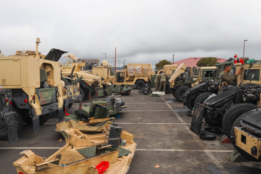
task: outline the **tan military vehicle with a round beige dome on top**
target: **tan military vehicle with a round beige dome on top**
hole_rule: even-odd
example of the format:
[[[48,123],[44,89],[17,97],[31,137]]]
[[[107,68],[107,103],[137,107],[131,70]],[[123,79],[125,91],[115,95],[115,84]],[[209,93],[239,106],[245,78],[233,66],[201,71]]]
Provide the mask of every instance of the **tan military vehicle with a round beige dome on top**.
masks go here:
[[[101,84],[103,89],[109,86],[110,83],[110,69],[111,65],[108,64],[108,61],[103,60],[98,67],[92,67],[92,71],[89,71],[90,74],[98,75],[101,77]]]

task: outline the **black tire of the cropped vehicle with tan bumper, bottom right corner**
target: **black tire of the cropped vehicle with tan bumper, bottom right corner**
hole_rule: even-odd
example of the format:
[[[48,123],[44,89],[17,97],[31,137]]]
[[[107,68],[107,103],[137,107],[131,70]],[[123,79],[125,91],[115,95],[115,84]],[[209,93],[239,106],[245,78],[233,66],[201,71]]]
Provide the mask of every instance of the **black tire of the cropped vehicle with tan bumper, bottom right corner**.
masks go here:
[[[234,136],[235,137],[235,129],[234,127],[241,127],[241,124],[240,124],[240,121],[241,121],[241,118],[245,117],[246,115],[248,114],[251,114],[252,112],[255,112],[256,110],[251,110],[251,111],[248,111],[246,113],[243,113],[242,115],[240,115],[236,120],[235,122],[233,123],[232,125],[232,128],[231,128],[231,132],[230,132],[230,135],[231,136]],[[235,141],[231,141],[232,144],[233,144],[233,147],[235,149],[236,152],[240,153],[241,155],[243,155],[246,159],[248,160],[256,160],[256,158],[252,157],[250,154],[248,154],[247,152],[245,152],[244,150],[242,150],[240,147],[236,146],[235,145]]]

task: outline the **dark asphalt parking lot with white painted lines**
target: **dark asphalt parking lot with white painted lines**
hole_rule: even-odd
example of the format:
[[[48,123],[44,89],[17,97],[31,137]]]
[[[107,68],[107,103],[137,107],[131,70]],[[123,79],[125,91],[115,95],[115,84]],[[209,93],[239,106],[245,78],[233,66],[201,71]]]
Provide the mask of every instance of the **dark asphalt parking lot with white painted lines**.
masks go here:
[[[188,117],[187,108],[178,103],[173,95],[150,97],[133,89],[131,95],[120,97],[126,103],[127,110],[116,118],[115,123],[134,134],[137,149],[132,159],[128,174],[137,173],[261,173],[260,161],[235,163],[228,159],[233,152],[231,143],[216,140],[204,141],[189,130],[192,117]],[[90,104],[92,97],[83,100]],[[78,108],[73,105],[71,113]],[[40,132],[32,135],[32,126],[23,125],[19,141],[9,145],[8,141],[0,141],[0,173],[16,173],[13,162],[21,158],[20,152],[30,149],[40,157],[49,157],[62,146],[65,139],[61,133],[54,131],[58,123],[58,115],[52,116],[48,122],[40,126]],[[202,125],[201,131],[207,126]],[[62,139],[63,141],[59,141]],[[160,167],[154,168],[159,165]]]

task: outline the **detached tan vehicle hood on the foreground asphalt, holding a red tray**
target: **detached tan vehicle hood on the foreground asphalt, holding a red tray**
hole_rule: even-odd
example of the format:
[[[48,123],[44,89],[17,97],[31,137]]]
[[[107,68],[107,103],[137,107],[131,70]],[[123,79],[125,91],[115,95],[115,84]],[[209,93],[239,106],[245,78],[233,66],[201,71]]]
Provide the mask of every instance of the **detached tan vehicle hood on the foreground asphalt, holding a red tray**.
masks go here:
[[[117,124],[108,125],[106,134],[86,135],[77,128],[63,129],[66,144],[48,158],[31,150],[13,163],[17,174],[116,174],[127,173],[137,143],[134,135]]]

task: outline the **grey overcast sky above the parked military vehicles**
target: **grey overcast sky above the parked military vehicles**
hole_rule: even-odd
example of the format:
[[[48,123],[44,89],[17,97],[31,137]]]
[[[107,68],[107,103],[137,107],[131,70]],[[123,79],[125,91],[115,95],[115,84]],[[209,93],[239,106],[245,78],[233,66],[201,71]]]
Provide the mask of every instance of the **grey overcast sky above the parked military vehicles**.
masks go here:
[[[189,57],[261,59],[260,0],[1,1],[0,50],[52,48],[127,63]],[[65,55],[67,55],[65,54]],[[63,55],[64,56],[64,55]],[[65,62],[63,58],[61,62]],[[118,66],[118,61],[117,64]]]

